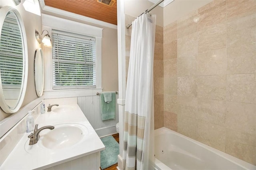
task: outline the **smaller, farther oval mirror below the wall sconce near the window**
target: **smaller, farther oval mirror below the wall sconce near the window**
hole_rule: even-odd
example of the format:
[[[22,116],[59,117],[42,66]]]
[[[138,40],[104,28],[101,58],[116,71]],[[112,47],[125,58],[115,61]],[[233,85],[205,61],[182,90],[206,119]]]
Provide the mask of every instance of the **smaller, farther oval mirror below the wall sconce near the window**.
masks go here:
[[[36,50],[34,60],[35,88],[38,97],[42,96],[44,90],[44,53],[41,48]]]

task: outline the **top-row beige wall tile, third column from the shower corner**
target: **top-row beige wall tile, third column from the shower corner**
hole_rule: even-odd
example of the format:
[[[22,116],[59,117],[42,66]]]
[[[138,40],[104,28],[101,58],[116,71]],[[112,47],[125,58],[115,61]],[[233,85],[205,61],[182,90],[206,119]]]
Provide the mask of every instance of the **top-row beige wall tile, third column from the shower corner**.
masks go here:
[[[226,0],[214,0],[198,9],[198,30],[226,21]]]

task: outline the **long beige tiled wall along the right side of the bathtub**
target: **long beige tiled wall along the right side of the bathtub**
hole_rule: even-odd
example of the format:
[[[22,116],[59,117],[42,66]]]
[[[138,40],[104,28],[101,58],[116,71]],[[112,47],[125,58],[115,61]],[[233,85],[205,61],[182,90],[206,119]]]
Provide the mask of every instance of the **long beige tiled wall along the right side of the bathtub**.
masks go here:
[[[256,0],[214,0],[163,35],[163,64],[154,63],[156,127],[164,121],[256,165]]]

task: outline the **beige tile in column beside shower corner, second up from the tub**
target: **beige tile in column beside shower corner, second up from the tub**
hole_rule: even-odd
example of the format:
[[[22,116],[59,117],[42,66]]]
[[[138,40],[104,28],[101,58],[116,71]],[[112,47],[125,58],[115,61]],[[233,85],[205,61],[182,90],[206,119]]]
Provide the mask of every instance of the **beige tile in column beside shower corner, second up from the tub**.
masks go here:
[[[177,113],[177,96],[164,94],[164,111]]]

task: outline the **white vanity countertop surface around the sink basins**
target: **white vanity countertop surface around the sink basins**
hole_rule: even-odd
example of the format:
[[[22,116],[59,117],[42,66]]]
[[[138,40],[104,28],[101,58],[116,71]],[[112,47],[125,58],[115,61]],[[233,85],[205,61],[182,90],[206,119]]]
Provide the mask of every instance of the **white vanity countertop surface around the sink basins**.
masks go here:
[[[43,126],[54,126],[62,123],[82,124],[88,129],[88,134],[86,134],[81,141],[64,149],[48,149],[42,145],[41,140],[44,134],[50,131],[49,129],[44,129],[40,132],[40,139],[35,145],[28,145],[28,135],[30,135],[30,133],[26,133],[6,158],[0,169],[45,169],[104,150],[105,146],[80,107],[77,104],[65,105],[63,107],[72,107],[72,111],[64,113],[46,111],[46,113],[38,116],[35,120],[35,124],[38,124],[38,129]],[[57,107],[52,107],[53,110],[55,108]]]

